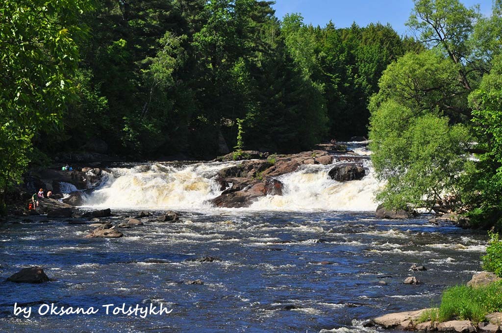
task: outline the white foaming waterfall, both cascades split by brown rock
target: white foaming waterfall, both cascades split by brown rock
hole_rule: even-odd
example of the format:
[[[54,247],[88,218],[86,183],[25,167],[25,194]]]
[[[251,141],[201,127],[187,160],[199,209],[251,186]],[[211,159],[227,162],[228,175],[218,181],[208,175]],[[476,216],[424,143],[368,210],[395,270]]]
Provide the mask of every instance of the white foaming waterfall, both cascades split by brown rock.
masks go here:
[[[349,145],[350,146],[350,145]],[[367,155],[365,146],[350,146]],[[346,155],[344,157],[351,157]],[[352,156],[353,157],[353,156]],[[239,162],[199,162],[189,165],[156,162],[132,168],[114,168],[107,180],[86,198],[87,207],[112,209],[214,209],[208,200],[221,194],[219,170]],[[247,210],[271,211],[374,211],[373,192],[379,188],[371,161],[362,160],[366,176],[339,183],[329,178],[330,165],[301,165],[293,173],[277,177],[282,196],[258,199]]]

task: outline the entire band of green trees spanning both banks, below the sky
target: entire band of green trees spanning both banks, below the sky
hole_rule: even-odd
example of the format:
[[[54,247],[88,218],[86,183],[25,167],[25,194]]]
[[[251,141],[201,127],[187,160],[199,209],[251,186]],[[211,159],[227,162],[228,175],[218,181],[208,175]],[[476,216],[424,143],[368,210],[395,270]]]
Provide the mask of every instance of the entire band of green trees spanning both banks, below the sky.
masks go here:
[[[210,159],[369,135],[387,207],[442,201],[477,223],[502,217],[500,0],[488,17],[414,0],[414,37],[313,27],[272,5],[4,1],[4,196],[62,151]]]

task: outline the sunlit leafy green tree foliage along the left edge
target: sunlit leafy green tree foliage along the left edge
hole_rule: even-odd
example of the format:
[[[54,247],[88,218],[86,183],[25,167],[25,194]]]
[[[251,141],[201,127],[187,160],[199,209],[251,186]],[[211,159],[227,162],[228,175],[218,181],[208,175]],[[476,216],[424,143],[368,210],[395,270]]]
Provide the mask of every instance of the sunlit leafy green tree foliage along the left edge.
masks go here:
[[[0,5],[0,208],[21,181],[32,139],[54,133],[75,94],[78,20],[88,1],[10,1]]]

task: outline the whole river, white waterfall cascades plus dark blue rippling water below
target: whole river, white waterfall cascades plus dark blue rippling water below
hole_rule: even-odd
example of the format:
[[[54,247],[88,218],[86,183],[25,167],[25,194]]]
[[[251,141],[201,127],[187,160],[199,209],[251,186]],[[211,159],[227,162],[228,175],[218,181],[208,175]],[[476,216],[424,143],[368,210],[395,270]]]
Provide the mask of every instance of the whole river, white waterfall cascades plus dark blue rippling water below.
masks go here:
[[[480,269],[483,233],[425,217],[375,219],[369,161],[360,181],[337,183],[330,165],[311,165],[281,176],[283,196],[213,208],[207,200],[221,192],[213,178],[231,163],[112,169],[86,201],[111,208],[117,223],[142,209],[178,210],[180,223],[149,222],[117,239],[84,238],[88,226],[61,220],[0,227],[0,276],[38,265],[57,279],[0,282],[0,331],[375,332],[362,321],[435,305]],[[203,256],[221,261],[187,261]],[[413,263],[428,270],[412,274]],[[424,283],[403,284],[409,275]],[[14,303],[100,310],[27,319]],[[172,312],[142,318],[102,307],[122,303]]]

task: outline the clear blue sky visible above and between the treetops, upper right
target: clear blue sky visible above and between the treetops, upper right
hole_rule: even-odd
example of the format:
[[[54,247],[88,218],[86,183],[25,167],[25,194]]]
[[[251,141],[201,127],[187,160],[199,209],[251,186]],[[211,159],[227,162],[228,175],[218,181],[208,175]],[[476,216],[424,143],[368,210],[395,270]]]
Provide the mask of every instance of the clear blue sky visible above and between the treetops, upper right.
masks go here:
[[[364,27],[369,23],[390,23],[400,35],[412,35],[405,26],[413,8],[412,0],[275,0],[276,16],[300,13],[305,24],[324,27],[329,20],[337,28],[352,22]],[[461,0],[467,7],[480,5],[481,14],[491,14],[492,0]]]

